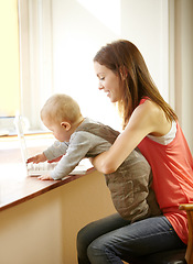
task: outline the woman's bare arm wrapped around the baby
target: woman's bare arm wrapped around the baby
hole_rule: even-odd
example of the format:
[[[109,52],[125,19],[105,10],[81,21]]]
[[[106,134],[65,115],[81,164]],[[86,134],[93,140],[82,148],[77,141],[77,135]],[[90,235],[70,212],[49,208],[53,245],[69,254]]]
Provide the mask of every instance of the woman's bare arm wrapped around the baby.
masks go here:
[[[112,173],[146,135],[163,135],[169,132],[169,129],[170,123],[163,111],[156,103],[147,100],[136,108],[125,131],[117,138],[111,147],[93,158],[92,163],[97,170],[104,174]]]

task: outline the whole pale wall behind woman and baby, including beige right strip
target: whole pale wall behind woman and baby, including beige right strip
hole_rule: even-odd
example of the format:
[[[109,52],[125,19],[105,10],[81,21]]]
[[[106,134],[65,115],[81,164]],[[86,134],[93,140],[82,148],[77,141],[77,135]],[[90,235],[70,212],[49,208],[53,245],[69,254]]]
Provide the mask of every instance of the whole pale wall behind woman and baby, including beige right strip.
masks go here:
[[[84,116],[120,129],[97,89],[93,57],[127,38],[141,51],[160,92],[174,108],[193,151],[192,0],[19,0],[22,112],[33,129],[53,92],[72,95]]]

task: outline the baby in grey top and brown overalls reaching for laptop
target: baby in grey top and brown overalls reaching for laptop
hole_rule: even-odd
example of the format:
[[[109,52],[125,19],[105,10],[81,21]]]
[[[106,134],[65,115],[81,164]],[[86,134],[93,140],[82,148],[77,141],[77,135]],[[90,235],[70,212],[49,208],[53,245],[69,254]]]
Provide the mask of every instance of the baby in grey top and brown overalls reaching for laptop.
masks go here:
[[[107,151],[119,135],[108,125],[84,118],[77,102],[66,95],[54,95],[41,110],[44,125],[57,140],[43,153],[28,160],[40,163],[62,156],[50,175],[40,179],[62,179],[84,157],[95,157]],[[138,148],[126,158],[120,167],[105,175],[112,202],[120,216],[131,222],[161,213],[150,185],[152,174],[149,163]]]

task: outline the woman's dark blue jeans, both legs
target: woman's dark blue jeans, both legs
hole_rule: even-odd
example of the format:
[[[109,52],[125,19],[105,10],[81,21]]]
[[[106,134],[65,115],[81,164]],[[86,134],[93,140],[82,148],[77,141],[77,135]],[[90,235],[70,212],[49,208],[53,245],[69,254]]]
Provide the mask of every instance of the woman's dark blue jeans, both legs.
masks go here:
[[[142,263],[144,255],[182,248],[164,216],[130,223],[116,213],[87,224],[77,235],[79,264]]]

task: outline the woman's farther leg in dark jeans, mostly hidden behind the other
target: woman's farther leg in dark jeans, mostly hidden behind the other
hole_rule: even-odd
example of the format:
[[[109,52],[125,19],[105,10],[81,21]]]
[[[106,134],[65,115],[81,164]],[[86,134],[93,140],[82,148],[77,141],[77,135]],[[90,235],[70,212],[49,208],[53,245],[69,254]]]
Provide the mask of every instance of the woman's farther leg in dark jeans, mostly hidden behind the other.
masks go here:
[[[87,256],[88,245],[103,234],[128,226],[130,222],[124,220],[118,213],[92,222],[83,228],[77,234],[77,255],[79,264],[90,264]]]

